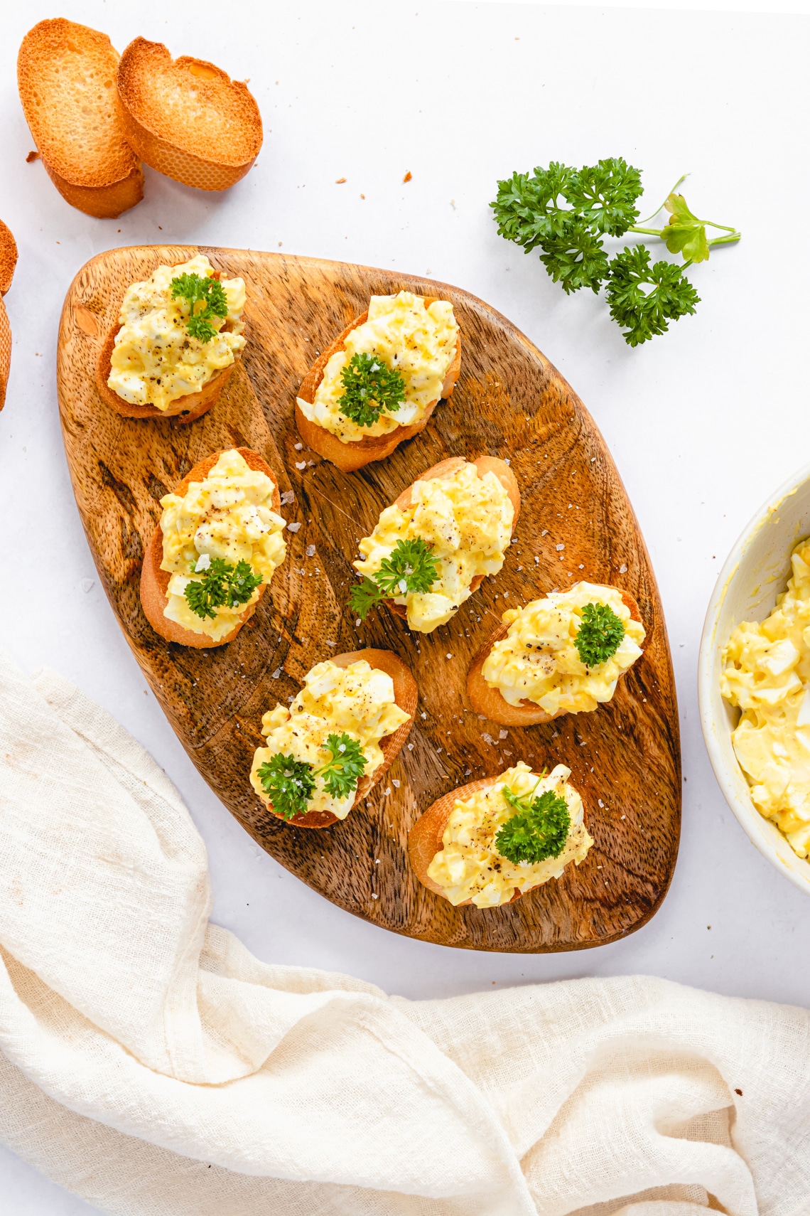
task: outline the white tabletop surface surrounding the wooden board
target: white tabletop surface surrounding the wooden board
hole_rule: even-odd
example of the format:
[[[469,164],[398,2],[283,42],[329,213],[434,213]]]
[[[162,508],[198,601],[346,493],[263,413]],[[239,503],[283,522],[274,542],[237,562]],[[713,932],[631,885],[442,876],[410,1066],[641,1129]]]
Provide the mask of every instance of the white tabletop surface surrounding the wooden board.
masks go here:
[[[350,972],[410,997],[647,973],[810,1004],[806,944],[799,948],[810,901],[727,810],[695,688],[703,614],[726,552],[770,490],[810,460],[808,4],[784,0],[780,16],[646,7],[655,11],[435,0],[141,0],[136,10],[64,0],[62,15],[108,32],[119,50],[142,34],[250,78],[265,119],[259,162],[230,193],[187,190],[146,169],[145,202],[119,220],[95,220],[62,201],[40,163],[26,163],[33,143],[16,49],[53,5],[6,6],[0,216],[19,263],[6,297],[15,347],[0,416],[0,637],[26,670],[50,664],[79,683],[157,756],[208,844],[214,918],[264,959]],[[690,171],[690,206],[743,232],[737,247],[692,269],[703,297],[696,316],[635,350],[602,299],[565,297],[536,257],[499,238],[487,206],[512,169],[616,154],[644,170],[642,215]],[[585,401],[652,554],[680,698],[680,857],[661,911],[639,933],[595,951],[522,957],[387,934],[282,869],[192,767],[94,569],[62,449],[55,350],[62,299],[90,257],[196,241],[281,243],[285,253],[457,283],[511,317]],[[0,1183],[15,1216],[91,1211],[1,1150]]]

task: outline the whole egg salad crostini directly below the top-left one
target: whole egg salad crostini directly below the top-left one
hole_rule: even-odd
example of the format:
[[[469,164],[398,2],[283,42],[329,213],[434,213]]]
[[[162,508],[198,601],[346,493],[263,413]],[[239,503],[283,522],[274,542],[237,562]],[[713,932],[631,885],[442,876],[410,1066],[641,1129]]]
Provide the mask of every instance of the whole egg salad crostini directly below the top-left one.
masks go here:
[[[160,499],[143,558],[141,603],[169,642],[232,642],[284,561],[278,482],[249,447],[214,452]]]

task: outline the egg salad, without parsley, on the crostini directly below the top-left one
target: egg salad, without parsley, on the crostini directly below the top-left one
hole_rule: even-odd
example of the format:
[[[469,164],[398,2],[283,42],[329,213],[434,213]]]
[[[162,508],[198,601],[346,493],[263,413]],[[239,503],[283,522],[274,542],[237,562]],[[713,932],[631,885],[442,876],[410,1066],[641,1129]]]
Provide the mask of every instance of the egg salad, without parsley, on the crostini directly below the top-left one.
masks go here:
[[[285,520],[272,510],[274,489],[265,473],[251,469],[232,450],[222,452],[208,477],[192,482],[182,497],[166,494],[160,499],[160,569],[171,574],[164,617],[214,641],[231,632],[245,608],[259,598],[257,587],[247,603],[217,607],[213,619],[192,612],[186,589],[205,578],[215,558],[232,568],[247,562],[254,575],[270,582],[287,552],[282,535]]]

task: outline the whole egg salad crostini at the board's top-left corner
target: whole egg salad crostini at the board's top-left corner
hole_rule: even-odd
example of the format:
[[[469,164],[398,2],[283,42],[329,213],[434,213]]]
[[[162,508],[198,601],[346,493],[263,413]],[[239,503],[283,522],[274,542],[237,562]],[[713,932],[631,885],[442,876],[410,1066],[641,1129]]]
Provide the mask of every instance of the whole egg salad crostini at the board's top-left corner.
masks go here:
[[[129,418],[199,418],[244,348],[244,280],[221,278],[204,254],[131,283],[98,358],[103,400]]]

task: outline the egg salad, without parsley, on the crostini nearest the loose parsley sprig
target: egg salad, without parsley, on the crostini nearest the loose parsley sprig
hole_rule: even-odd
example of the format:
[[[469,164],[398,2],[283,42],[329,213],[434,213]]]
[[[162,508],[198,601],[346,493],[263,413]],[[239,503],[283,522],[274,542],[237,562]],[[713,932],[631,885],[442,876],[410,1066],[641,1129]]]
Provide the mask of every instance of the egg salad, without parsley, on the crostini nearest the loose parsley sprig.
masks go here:
[[[310,422],[330,430],[341,443],[356,443],[386,435],[396,427],[419,422],[425,410],[442,395],[442,384],[455,358],[458,325],[449,300],[434,300],[427,308],[421,295],[372,295],[368,320],[352,330],[345,350],[336,350],[323,371],[315,400],[298,399]],[[387,368],[398,372],[404,400],[395,412],[383,412],[372,426],[358,426],[340,409],[346,393],[342,372],[353,356],[376,355]]]

